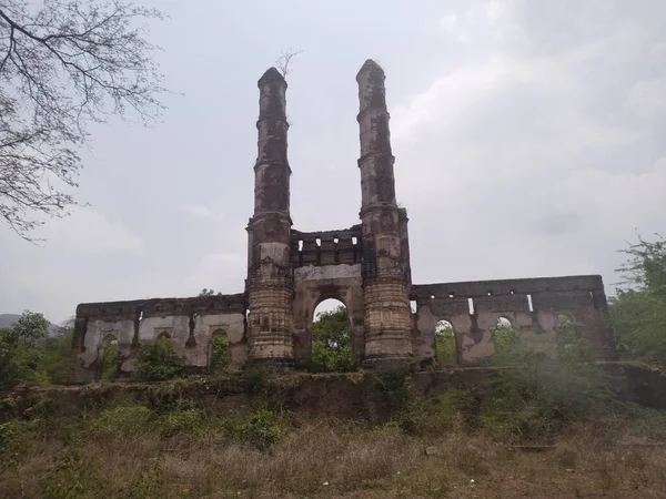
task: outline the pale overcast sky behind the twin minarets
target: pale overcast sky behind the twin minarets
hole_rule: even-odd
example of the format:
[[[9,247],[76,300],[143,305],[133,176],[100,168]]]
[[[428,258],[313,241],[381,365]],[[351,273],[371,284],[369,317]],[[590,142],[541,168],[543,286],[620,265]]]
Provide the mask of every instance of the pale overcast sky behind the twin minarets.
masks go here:
[[[602,274],[666,233],[664,0],[144,2],[169,110],[92,130],[80,201],[26,243],[0,225],[0,313],[243,291],[256,80],[287,48],[292,218],[359,222],[365,59],[386,72],[414,283]]]

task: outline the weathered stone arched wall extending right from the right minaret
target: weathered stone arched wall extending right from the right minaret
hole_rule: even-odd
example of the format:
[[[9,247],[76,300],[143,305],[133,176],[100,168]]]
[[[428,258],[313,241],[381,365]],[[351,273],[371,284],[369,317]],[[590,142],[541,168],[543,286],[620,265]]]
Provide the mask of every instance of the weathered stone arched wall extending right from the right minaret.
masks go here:
[[[522,340],[554,345],[558,316],[596,347],[598,358],[616,357],[598,275],[413,285],[411,298],[416,305],[412,346],[422,360],[435,356],[440,320],[453,326],[458,361],[483,364],[495,355],[500,318]]]

